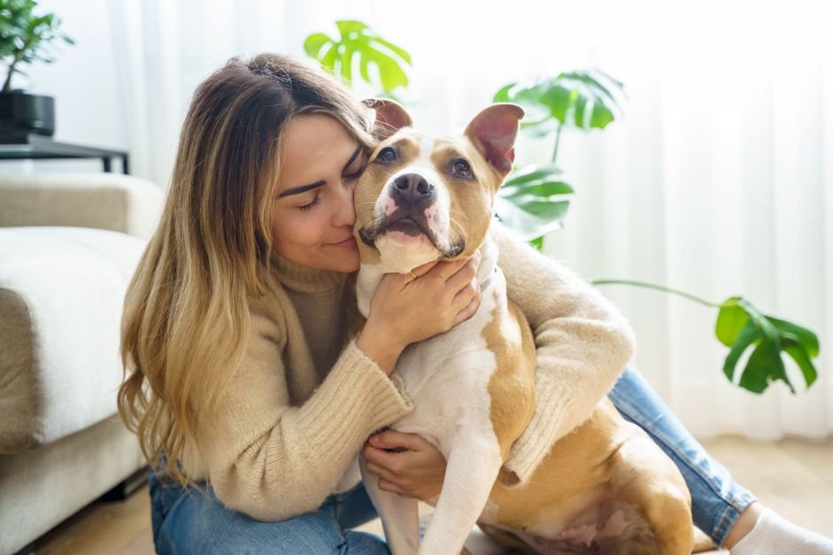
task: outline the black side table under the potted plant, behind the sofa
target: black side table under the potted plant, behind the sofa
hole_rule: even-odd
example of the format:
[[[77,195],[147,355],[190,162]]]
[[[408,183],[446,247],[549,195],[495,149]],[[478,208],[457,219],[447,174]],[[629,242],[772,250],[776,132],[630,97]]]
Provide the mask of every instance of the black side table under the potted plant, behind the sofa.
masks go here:
[[[0,160],[35,160],[46,158],[101,158],[104,172],[112,172],[112,158],[121,158],[122,171],[129,166],[127,151],[100,149],[81,144],[60,143],[33,133],[0,135]]]

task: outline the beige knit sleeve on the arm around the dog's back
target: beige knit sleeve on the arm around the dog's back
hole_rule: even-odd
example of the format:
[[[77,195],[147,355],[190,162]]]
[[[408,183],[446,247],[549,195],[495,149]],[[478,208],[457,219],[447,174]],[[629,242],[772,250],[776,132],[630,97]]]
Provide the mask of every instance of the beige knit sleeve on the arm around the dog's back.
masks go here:
[[[590,417],[633,356],[635,340],[621,312],[590,283],[504,227],[492,230],[509,298],[536,343],[535,412],[504,465],[521,485],[554,443]]]

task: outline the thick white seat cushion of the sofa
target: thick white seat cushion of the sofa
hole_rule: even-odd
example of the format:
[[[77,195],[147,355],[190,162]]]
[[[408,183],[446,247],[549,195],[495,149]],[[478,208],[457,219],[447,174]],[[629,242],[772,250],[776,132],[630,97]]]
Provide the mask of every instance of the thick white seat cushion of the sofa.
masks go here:
[[[0,452],[116,412],[122,304],[144,246],[103,229],[0,228]]]

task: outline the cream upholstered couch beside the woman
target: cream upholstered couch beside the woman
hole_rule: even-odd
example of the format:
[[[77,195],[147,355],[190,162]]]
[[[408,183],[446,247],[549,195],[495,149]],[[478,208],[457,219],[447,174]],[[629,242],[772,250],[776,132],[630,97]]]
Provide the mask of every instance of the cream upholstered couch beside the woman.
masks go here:
[[[144,475],[116,410],[120,318],[161,205],[126,175],[0,176],[0,554]]]

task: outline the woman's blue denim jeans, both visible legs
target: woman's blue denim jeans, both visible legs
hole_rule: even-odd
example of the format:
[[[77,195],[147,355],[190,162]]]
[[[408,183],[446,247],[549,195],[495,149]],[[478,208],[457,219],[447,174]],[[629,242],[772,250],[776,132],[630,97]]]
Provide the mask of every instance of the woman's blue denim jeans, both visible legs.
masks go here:
[[[694,523],[721,545],[755,497],[704,451],[636,370],[625,368],[608,396],[624,418],[644,428],[680,468],[691,491]],[[199,485],[200,489],[185,490],[150,473],[150,516],[159,555],[389,554],[381,538],[351,530],[376,518],[361,484],[328,497],[317,511],[280,522],[261,522],[227,509],[210,485]]]

